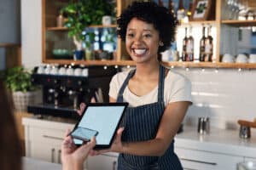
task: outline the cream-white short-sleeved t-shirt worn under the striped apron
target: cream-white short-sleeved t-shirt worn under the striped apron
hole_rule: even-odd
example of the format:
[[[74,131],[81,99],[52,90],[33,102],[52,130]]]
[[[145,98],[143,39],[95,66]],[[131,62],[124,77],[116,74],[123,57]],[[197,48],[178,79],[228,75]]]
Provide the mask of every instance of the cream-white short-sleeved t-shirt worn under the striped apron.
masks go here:
[[[127,77],[128,73],[129,71],[122,71],[113,76],[108,93],[111,98],[117,99],[119,89],[125,82],[125,78]],[[165,105],[176,101],[192,101],[191,82],[188,78],[183,77],[183,75],[177,72],[168,71],[165,78],[164,88]],[[138,105],[147,105],[157,102],[157,96],[158,85],[151,92],[143,96],[133,94],[127,85],[123,94],[123,99],[124,102],[128,102],[131,107],[136,107]]]

